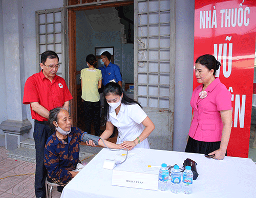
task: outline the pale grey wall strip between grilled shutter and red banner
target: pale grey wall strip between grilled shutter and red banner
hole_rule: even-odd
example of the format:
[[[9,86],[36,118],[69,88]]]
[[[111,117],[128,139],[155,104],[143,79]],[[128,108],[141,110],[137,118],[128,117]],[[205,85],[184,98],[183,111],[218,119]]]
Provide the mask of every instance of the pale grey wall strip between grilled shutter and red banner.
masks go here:
[[[193,92],[194,1],[176,1],[174,151],[185,151]]]

